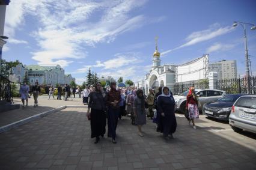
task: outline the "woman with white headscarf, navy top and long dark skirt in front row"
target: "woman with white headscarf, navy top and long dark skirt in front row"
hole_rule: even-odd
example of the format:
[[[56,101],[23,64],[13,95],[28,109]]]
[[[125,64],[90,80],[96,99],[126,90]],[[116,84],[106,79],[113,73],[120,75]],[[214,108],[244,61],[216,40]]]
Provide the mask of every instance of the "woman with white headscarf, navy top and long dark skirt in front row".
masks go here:
[[[175,118],[175,100],[172,97],[168,87],[162,88],[162,94],[157,97],[157,111],[160,113],[159,130],[163,133],[163,137],[169,140],[169,136],[175,132],[177,122]]]

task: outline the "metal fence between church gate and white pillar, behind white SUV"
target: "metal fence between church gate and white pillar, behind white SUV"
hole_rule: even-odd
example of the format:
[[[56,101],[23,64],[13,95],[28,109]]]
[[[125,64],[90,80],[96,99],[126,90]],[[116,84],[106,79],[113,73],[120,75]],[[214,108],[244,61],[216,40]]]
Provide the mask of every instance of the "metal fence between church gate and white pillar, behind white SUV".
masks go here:
[[[184,91],[189,90],[190,87],[195,87],[197,89],[207,89],[209,88],[209,80],[195,80],[190,82],[181,82],[174,84],[174,91],[172,92],[174,95],[183,93]]]

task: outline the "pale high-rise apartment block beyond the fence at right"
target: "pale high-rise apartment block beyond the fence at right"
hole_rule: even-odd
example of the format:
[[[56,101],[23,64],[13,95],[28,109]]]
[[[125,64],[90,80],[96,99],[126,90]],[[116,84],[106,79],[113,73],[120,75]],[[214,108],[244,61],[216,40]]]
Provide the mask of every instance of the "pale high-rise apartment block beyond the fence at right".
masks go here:
[[[236,60],[222,60],[209,64],[209,71],[216,71],[218,79],[236,79],[237,67]]]

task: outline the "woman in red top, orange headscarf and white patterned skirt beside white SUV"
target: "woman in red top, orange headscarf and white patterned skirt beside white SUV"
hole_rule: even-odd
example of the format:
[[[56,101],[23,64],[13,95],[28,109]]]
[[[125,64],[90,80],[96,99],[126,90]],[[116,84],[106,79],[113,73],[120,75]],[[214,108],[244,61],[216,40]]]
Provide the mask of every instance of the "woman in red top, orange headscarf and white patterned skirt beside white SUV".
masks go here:
[[[195,88],[190,87],[189,93],[187,94],[187,101],[186,101],[186,109],[189,112],[189,124],[190,121],[193,123],[193,128],[197,129],[195,126],[195,119],[199,118],[199,111],[198,111],[198,98],[197,94],[195,94]]]

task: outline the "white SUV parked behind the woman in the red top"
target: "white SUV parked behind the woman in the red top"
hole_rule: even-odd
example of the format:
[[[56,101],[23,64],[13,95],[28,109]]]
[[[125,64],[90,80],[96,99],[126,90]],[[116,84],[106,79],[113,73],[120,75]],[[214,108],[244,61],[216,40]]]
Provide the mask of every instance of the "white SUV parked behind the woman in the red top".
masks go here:
[[[187,93],[189,91],[185,91],[180,96],[175,95],[174,100],[176,102],[175,109],[176,111],[180,111],[182,113],[186,110],[186,100],[187,100]],[[225,91],[222,90],[199,90],[195,89],[195,94],[198,96],[198,109],[202,111],[204,103],[213,102],[223,96],[226,95]]]

